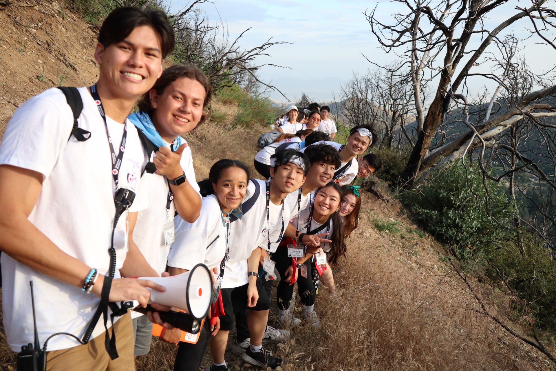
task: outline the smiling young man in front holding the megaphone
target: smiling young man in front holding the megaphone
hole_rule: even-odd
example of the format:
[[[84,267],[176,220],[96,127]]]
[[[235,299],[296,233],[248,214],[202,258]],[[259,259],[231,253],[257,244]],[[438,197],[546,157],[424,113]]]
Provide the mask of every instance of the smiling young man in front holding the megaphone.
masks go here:
[[[78,90],[83,110],[77,123],[79,130],[90,132],[86,140],[71,135],[73,113],[57,88],[23,103],[4,133],[0,246],[8,344],[17,352],[33,342],[29,281],[41,345],[54,333],[82,339],[87,327],[92,331],[85,345],[68,335],[51,338],[46,348],[49,370],[135,369],[130,315],[113,319],[115,347],[105,344],[103,319],[96,327],[91,319],[101,297],[106,300],[102,303],[137,300],[145,306],[147,287],[164,290],[151,281],[120,277],[129,275],[123,268],[126,259],[146,264],[127,244],[128,212],[143,209],[147,200],[141,182],[146,157],[126,117],[160,76],[163,58],[173,45],[163,12],[116,9],[99,33],[98,81],[91,89]],[[37,137],[41,143],[30,146]],[[116,207],[116,196],[133,193],[135,201],[128,210]],[[116,219],[118,209],[122,214]],[[112,326],[110,318],[107,325]]]

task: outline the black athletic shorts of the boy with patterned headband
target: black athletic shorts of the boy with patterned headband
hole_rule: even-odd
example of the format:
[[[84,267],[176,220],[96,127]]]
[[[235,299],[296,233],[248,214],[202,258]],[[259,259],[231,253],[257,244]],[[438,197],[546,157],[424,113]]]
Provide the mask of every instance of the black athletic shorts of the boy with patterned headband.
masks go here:
[[[236,288],[222,289],[222,305],[224,305],[224,313],[220,317],[220,329],[230,331],[234,328],[234,313],[247,309],[247,286],[238,286]],[[270,309],[270,299],[266,295],[265,288],[262,287],[262,281],[257,278],[257,291],[259,291],[259,300],[257,305],[251,310],[268,310]]]

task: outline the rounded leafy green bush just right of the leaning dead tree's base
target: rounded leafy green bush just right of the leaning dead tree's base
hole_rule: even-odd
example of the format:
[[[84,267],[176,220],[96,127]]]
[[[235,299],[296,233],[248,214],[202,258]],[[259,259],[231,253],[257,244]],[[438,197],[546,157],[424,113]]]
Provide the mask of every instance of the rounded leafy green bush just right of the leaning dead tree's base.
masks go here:
[[[428,183],[404,192],[400,199],[430,234],[451,246],[458,259],[483,261],[493,248],[489,241],[504,238],[512,223],[504,187],[489,182],[488,199],[475,164],[468,165],[468,172],[457,162],[430,174]]]

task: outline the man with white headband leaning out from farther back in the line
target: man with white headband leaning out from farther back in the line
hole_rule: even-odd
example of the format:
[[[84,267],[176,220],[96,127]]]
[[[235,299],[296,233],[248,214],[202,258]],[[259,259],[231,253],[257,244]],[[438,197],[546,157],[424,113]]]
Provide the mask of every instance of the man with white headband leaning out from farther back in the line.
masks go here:
[[[368,161],[357,160],[357,156],[363,155],[365,151],[375,142],[376,136],[370,125],[361,125],[352,128],[347,137],[347,143],[341,145],[336,142],[320,141],[315,144],[327,144],[340,152],[342,163],[334,173],[334,181],[340,185],[350,185],[355,177],[365,177],[375,170]],[[305,147],[307,148],[307,147]],[[304,152],[305,149],[300,150]]]

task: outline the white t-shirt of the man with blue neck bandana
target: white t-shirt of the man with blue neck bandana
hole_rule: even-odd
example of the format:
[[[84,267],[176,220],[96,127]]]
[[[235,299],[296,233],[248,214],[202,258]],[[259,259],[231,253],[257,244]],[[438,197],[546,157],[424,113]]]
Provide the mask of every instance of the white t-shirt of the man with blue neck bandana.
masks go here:
[[[185,172],[186,181],[198,193],[199,186],[195,180],[190,147],[183,150],[180,165]],[[170,210],[166,214],[166,202],[170,186],[165,176],[155,172],[153,174],[145,173],[143,177],[148,179],[149,205],[147,210],[140,211],[137,215],[137,222],[133,230],[133,241],[145,256],[147,263],[160,275],[166,269],[166,259],[170,251],[170,245],[165,246],[164,243],[164,229],[174,219],[175,207],[172,201]]]

